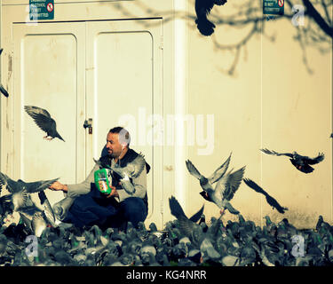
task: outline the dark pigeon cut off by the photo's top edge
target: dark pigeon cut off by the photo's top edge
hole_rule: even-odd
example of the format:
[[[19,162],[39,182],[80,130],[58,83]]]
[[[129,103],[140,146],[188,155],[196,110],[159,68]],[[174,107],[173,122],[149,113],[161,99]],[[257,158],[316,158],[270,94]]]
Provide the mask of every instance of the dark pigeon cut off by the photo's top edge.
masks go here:
[[[226,0],[195,0],[195,12],[197,16],[195,24],[202,36],[210,36],[214,33],[215,25],[207,19],[207,16],[214,5],[221,6],[224,4],[226,4]]]

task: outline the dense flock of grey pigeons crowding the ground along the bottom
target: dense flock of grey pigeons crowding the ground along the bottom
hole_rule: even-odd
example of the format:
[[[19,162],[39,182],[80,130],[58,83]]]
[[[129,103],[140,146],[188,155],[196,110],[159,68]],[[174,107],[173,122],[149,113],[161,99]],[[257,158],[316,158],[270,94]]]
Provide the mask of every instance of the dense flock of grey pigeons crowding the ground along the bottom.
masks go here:
[[[163,230],[151,223],[127,231],[99,226],[47,226],[27,241],[23,224],[0,227],[1,266],[328,266],[333,264],[333,226],[319,217],[313,230],[297,230],[286,218],[262,228],[241,214],[238,222],[211,217],[202,209],[187,218],[170,197],[177,220]],[[0,207],[0,209],[2,209]],[[0,212],[2,216],[3,212]],[[297,237],[297,238],[295,238]]]

